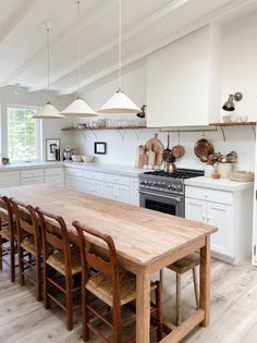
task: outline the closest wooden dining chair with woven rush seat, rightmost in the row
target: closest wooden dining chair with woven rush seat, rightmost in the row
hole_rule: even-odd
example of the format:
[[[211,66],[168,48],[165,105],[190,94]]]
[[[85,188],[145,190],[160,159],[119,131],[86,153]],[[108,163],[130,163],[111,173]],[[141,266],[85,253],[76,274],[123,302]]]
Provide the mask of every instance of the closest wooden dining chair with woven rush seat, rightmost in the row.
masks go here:
[[[83,314],[83,339],[89,341],[89,331],[95,333],[101,342],[121,343],[122,329],[128,327],[136,319],[133,316],[122,322],[121,307],[130,305],[136,298],[136,278],[134,274],[120,270],[114,243],[111,236],[102,234],[94,229],[86,228],[79,222],[74,221],[73,225],[78,233],[78,242],[81,247],[82,259],[82,314]],[[105,258],[96,252],[90,252],[91,244],[87,241],[87,236],[93,240],[101,240],[107,246],[107,256]],[[106,250],[106,249],[105,249]],[[89,277],[88,270],[94,268],[97,272]],[[161,323],[161,294],[160,282],[151,284],[151,290],[155,289],[156,304],[151,303],[151,314],[156,314],[151,330],[157,330],[157,339],[161,340],[162,323]],[[93,301],[89,295],[94,295],[96,299],[100,299],[106,306],[100,309],[93,306]],[[108,320],[106,314],[109,314],[112,308],[112,320]],[[93,324],[91,318],[100,319],[109,328],[113,330],[112,340],[109,341],[103,334]],[[130,341],[131,342],[131,341]]]

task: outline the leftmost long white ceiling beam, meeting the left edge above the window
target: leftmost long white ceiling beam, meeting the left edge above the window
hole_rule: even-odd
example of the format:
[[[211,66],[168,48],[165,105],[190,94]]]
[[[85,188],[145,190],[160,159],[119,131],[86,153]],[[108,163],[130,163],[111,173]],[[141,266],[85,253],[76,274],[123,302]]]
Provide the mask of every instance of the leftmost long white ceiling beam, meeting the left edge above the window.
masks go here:
[[[44,1],[44,0],[33,0],[35,1]],[[111,8],[113,8],[117,3],[117,0],[106,0],[105,4],[101,5],[101,9],[98,8],[86,17],[85,21],[83,21],[82,15],[82,23],[84,25],[81,25],[81,30],[85,30],[87,27],[89,27],[91,24],[94,24],[97,20],[99,20],[102,15],[106,14],[107,11],[109,11]],[[85,14],[88,14],[87,11],[84,12]],[[50,53],[52,53],[56,49],[60,48],[62,45],[66,42],[68,39],[71,37],[77,35],[77,28],[76,25],[72,25],[69,27],[65,32],[63,32],[60,36],[58,36],[54,40],[51,41],[50,46]],[[16,77],[20,76],[22,73],[24,73],[26,70],[32,68],[35,63],[40,61],[41,59],[46,58],[46,48],[44,47],[39,51],[37,51],[28,61],[26,61],[24,64],[20,65],[5,81],[0,83],[0,87],[8,86],[16,81]],[[44,89],[47,85],[47,79],[44,83],[44,86],[40,89]],[[39,89],[37,89],[39,90]]]

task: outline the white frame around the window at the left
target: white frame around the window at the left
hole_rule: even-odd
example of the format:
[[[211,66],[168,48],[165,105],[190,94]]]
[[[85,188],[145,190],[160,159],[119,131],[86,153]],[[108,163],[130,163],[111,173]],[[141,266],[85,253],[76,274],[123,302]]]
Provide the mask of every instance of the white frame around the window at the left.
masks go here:
[[[33,109],[33,110],[40,110],[41,107],[39,106],[33,106],[33,105],[16,105],[16,103],[7,103],[5,107],[5,125],[7,125],[7,138],[5,138],[5,150],[8,152],[9,149],[9,132],[8,132],[8,112],[9,109]],[[25,162],[25,161],[38,161],[41,160],[42,151],[41,151],[41,137],[42,137],[42,132],[41,132],[41,119],[35,119],[35,150],[36,150],[36,158],[35,159],[24,159],[24,160],[12,160],[13,163],[19,163],[19,162]]]

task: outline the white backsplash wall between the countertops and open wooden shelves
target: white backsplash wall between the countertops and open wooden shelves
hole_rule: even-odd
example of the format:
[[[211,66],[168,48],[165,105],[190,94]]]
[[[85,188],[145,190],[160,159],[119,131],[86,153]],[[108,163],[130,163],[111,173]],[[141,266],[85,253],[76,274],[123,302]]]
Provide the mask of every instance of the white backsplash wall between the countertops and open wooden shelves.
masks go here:
[[[107,155],[97,155],[96,161],[100,163],[119,163],[125,166],[135,166],[137,148],[144,145],[149,138],[154,137],[156,130],[134,131],[96,131],[97,137],[90,132],[86,135],[76,133],[75,144],[78,147],[77,152],[82,155],[94,155],[94,143],[106,142]],[[137,136],[138,135],[138,139]],[[122,136],[123,138],[122,138]],[[181,133],[181,144],[185,148],[184,157],[176,160],[178,167],[204,169],[204,163],[195,156],[194,145],[203,137],[201,132]],[[222,133],[206,132],[205,137],[210,139],[215,145],[215,150],[228,154],[235,150],[238,155],[238,163],[235,169],[254,171],[255,169],[255,136],[250,126],[244,127],[225,127],[225,142]],[[167,147],[167,133],[158,133],[158,138]],[[175,132],[170,133],[170,147],[178,144],[179,135]]]

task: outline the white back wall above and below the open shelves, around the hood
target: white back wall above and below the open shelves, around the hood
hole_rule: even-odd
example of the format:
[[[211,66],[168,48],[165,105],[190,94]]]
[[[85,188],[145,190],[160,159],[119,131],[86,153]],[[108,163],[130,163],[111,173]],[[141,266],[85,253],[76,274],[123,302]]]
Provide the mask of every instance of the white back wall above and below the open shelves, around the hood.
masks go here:
[[[222,59],[222,98],[221,105],[227,100],[230,93],[243,91],[244,99],[236,103],[236,114],[247,114],[248,120],[257,120],[257,45],[254,44],[257,36],[257,13],[230,23],[223,28],[223,59]],[[99,108],[117,89],[117,79],[106,83],[94,90],[87,91],[85,97],[95,109]],[[131,98],[142,106],[146,102],[146,65],[137,66],[123,75],[123,89]],[[221,114],[227,113],[221,110]],[[158,115],[158,113],[156,113]],[[121,115],[120,115],[121,117]],[[108,119],[119,118],[109,114]],[[135,118],[130,115],[131,119]],[[126,120],[126,117],[124,118]],[[124,139],[118,131],[98,131],[97,138],[88,132],[86,139],[78,133],[76,135],[76,146],[81,154],[94,154],[94,142],[107,142],[108,154],[97,156],[99,162],[122,163],[133,166],[135,163],[138,145],[145,144],[155,131],[144,130],[139,132],[139,139],[133,131],[125,133]],[[181,143],[186,148],[185,156],[178,166],[185,168],[204,168],[204,164],[194,155],[194,144],[201,137],[201,133],[183,133]],[[235,150],[238,154],[237,169],[255,169],[255,139],[250,126],[225,128],[225,143],[221,132],[206,133],[215,144],[217,151],[227,154]],[[160,134],[159,138],[166,145],[167,135]],[[178,134],[171,133],[171,146],[178,142]]]

